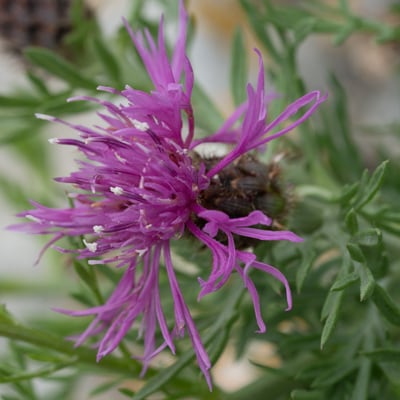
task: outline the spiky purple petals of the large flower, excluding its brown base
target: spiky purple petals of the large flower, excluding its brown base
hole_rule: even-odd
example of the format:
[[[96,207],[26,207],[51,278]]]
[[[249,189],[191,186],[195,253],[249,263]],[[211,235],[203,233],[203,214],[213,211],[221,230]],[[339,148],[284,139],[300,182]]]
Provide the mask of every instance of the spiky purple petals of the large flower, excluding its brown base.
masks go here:
[[[126,87],[100,90],[122,98],[121,104],[95,98],[70,99],[94,101],[105,108],[99,113],[102,127],[72,125],[57,118],[39,118],[71,126],[80,139],[54,139],[51,142],[75,146],[83,155],[79,169],[57,181],[72,184],[72,208],[52,209],[33,203],[34,209],[21,217],[31,221],[14,229],[50,234],[45,246],[53,246],[63,237],[84,237],[77,257],[89,264],[124,267],[123,276],[103,305],[85,311],[63,311],[72,316],[93,315],[76,345],[102,334],[98,359],[111,353],[132,328],[139,324],[144,341],[143,372],[149,361],[169,347],[175,352],[174,339],[189,335],[199,366],[211,387],[207,352],[182,296],[171,257],[171,242],[184,232],[202,242],[212,253],[211,272],[199,278],[199,298],[221,288],[233,271],[238,272],[252,297],[259,332],[265,331],[260,302],[249,270],[256,268],[271,274],[285,287],[288,309],[291,293],[285,276],[276,268],[256,260],[255,255],[236,244],[238,237],[257,240],[301,239],[292,232],[268,229],[272,220],[260,210],[232,217],[220,210],[207,209],[201,194],[218,179],[218,174],[251,150],[285,134],[307,119],[325,100],[319,92],[306,94],[290,104],[272,122],[267,120],[264,92],[264,67],[260,53],[255,88],[248,85],[248,100],[238,107],[213,135],[194,140],[191,104],[193,71],[185,54],[187,14],[180,2],[180,31],[171,60],[168,58],[163,22],[155,42],[148,31],[133,33],[127,29],[153,82],[154,90],[145,93]],[[295,121],[287,122],[301,108]],[[282,122],[285,127],[277,130]],[[211,167],[196,154],[201,143],[230,143],[231,150]],[[202,221],[201,224],[198,221]],[[220,240],[220,236],[225,239]],[[72,251],[56,247],[60,251]],[[44,250],[45,250],[44,249]],[[159,292],[160,260],[163,258],[171,288],[174,325],[167,324]],[[160,331],[163,341],[156,342]]]

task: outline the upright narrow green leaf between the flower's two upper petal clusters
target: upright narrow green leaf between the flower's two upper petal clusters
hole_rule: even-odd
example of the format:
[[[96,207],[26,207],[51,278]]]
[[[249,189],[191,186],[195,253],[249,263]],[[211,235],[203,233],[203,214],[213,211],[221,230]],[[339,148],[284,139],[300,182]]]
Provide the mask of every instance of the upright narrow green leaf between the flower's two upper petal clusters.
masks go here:
[[[247,98],[247,76],[246,47],[244,45],[242,31],[237,29],[233,39],[231,64],[231,91],[236,106],[242,104]]]

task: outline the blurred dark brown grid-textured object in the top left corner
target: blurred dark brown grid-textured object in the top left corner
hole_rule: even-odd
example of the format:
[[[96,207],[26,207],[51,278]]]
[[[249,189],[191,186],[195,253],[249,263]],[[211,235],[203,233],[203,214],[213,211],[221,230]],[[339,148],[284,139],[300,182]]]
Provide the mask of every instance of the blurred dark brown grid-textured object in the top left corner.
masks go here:
[[[0,0],[0,34],[20,53],[25,46],[57,50],[72,29],[74,0]]]

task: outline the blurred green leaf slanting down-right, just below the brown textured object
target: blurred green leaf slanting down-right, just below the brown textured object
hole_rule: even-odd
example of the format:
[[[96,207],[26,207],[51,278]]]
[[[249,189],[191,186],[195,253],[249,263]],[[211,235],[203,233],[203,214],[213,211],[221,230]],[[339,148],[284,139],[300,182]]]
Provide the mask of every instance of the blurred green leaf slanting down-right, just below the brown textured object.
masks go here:
[[[95,90],[98,85],[94,80],[85,77],[73,64],[50,50],[28,47],[24,50],[24,54],[32,64],[62,79],[73,88]]]

